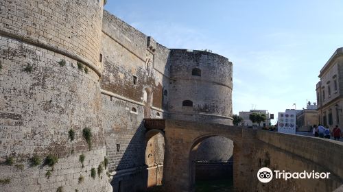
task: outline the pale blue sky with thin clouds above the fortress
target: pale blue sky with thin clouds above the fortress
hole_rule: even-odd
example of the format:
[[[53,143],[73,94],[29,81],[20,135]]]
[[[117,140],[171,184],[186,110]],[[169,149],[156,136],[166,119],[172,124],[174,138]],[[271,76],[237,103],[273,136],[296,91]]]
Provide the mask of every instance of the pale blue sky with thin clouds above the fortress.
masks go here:
[[[320,69],[343,46],[343,1],[108,1],[105,9],[169,48],[233,62],[233,113],[316,101]],[[277,115],[276,115],[277,117]]]

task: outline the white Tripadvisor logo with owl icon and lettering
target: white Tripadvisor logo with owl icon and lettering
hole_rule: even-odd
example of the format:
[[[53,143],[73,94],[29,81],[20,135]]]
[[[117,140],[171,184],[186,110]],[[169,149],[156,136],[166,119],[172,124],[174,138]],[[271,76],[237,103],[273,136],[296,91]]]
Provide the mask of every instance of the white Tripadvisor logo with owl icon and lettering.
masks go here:
[[[329,179],[329,172],[316,172],[316,171],[301,171],[301,172],[286,172],[285,170],[279,171],[274,170],[272,171],[268,167],[262,167],[257,171],[257,178],[260,182],[266,183],[270,182],[273,177],[275,179],[283,179],[283,180],[289,180],[289,179]]]

